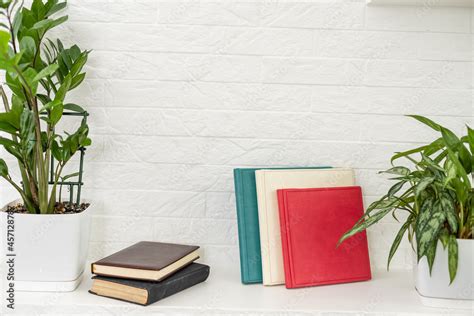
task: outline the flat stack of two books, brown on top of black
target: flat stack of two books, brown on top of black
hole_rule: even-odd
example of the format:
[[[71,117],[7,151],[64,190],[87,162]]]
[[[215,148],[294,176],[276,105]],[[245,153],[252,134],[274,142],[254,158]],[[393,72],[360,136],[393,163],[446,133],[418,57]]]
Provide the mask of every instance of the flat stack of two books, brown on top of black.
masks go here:
[[[91,265],[90,293],[149,305],[209,276],[198,246],[142,241]]]

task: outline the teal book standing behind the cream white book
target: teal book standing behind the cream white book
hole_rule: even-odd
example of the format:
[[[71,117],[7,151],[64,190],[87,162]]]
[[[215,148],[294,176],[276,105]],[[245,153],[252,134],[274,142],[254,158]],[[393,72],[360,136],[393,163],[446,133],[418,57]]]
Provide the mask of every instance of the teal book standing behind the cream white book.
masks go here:
[[[258,224],[257,187],[255,171],[261,169],[321,169],[331,167],[299,168],[237,168],[234,169],[235,200],[240,250],[240,277],[242,283],[262,283],[262,258]]]

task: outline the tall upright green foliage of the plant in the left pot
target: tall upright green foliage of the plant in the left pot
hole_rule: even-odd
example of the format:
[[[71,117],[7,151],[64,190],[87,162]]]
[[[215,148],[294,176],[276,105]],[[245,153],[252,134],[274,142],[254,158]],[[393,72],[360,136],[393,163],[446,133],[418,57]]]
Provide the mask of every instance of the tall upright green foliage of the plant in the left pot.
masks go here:
[[[19,192],[29,213],[54,211],[58,182],[67,177],[62,175],[64,166],[81,147],[91,144],[85,119],[73,133],[56,131],[64,111],[84,112],[65,100],[84,80],[82,69],[89,54],[77,45],[66,48],[60,40],[46,38],[48,31],[67,20],[56,17],[65,7],[66,2],[59,0],[34,0],[29,8],[17,0],[0,0],[0,69],[9,88],[7,92],[0,86],[5,109],[0,113],[0,132],[7,136],[0,134],[0,145],[18,162],[21,183],[14,181],[3,159],[0,177]],[[52,157],[57,161],[54,170],[50,170]]]

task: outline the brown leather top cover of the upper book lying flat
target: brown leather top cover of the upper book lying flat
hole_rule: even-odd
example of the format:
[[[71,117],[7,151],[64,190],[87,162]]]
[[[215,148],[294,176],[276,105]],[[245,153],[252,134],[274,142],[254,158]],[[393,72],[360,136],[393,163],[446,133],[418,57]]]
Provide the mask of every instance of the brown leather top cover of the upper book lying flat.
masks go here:
[[[199,246],[141,241],[92,265],[159,271],[198,248]]]

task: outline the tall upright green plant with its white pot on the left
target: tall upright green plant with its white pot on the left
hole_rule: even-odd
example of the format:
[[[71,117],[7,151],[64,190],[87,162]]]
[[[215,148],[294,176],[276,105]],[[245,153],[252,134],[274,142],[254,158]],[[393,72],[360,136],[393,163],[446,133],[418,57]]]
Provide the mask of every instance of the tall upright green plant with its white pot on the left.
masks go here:
[[[0,69],[6,81],[0,87],[0,146],[10,154],[10,160],[0,158],[0,185],[11,185],[20,197],[1,209],[1,234],[6,260],[15,255],[8,273],[14,274],[16,290],[73,290],[87,256],[91,210],[79,199],[84,148],[91,140],[87,113],[66,100],[84,80],[89,51],[46,37],[67,20],[57,16],[65,6],[58,0],[34,0],[28,8],[20,1],[0,1],[5,21]],[[82,121],[73,131],[59,132],[66,115]],[[75,156],[79,172],[66,174]],[[69,201],[62,202],[63,185],[76,189],[76,200],[70,192]]]

